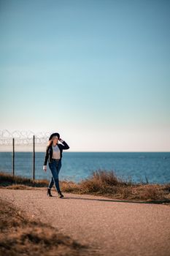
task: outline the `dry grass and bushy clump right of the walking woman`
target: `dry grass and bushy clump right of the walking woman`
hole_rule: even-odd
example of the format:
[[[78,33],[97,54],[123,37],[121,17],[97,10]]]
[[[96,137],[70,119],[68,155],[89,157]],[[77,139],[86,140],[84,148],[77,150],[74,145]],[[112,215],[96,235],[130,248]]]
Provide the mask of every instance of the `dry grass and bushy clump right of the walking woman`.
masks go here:
[[[132,184],[115,176],[112,170],[96,170],[78,184],[61,183],[65,192],[104,195],[116,199],[148,200],[170,203],[170,184]]]

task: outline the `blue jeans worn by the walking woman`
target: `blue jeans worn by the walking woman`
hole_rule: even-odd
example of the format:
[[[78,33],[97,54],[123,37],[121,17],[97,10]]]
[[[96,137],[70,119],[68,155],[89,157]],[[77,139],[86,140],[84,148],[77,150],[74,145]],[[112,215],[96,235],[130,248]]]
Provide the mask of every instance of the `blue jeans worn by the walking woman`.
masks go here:
[[[59,160],[52,159],[52,162],[49,162],[48,165],[50,167],[50,171],[52,174],[48,188],[52,189],[53,184],[55,184],[55,188],[56,188],[57,192],[60,192],[61,190],[60,190],[60,186],[59,186],[58,174],[61,170],[61,159],[59,159]]]

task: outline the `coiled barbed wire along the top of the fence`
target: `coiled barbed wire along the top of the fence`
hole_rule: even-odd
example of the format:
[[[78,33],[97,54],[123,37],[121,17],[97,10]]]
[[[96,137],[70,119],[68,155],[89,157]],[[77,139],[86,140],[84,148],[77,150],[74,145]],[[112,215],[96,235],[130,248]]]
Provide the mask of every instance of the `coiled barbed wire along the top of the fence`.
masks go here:
[[[32,132],[30,130],[15,130],[9,132],[7,129],[0,130],[0,146],[12,145],[12,138],[15,138],[15,145],[31,145],[33,136],[35,136],[36,144],[47,143],[52,132]]]

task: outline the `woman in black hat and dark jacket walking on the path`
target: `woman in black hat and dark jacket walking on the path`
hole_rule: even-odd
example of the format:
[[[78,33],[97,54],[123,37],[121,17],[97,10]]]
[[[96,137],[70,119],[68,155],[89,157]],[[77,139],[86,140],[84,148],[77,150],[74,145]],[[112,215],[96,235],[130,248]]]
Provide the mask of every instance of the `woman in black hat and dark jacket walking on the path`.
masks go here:
[[[58,140],[62,143],[58,143]],[[52,174],[50,183],[47,188],[47,195],[49,197],[52,197],[51,195],[51,189],[53,185],[55,184],[55,189],[58,192],[58,197],[62,198],[63,194],[61,193],[60,185],[59,185],[59,179],[58,174],[61,170],[61,158],[62,158],[62,152],[63,149],[69,149],[69,145],[66,143],[65,140],[62,140],[60,138],[60,135],[58,132],[53,133],[50,135],[48,145],[46,148],[46,154],[45,154],[45,162],[43,166],[43,170],[47,170],[47,161],[48,165],[50,167],[50,171]]]

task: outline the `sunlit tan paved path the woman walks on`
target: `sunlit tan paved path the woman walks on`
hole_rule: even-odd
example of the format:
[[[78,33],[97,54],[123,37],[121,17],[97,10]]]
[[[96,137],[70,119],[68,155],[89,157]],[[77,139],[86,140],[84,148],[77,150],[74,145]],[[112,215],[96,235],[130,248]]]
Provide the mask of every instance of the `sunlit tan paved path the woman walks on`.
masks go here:
[[[53,191],[0,189],[0,197],[11,201],[42,222],[82,244],[98,248],[101,255],[170,255],[170,206],[124,203],[93,195]]]

